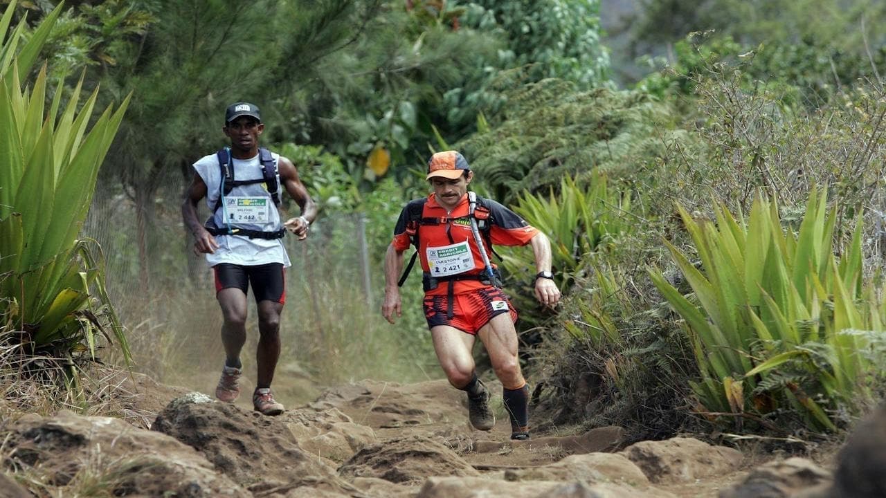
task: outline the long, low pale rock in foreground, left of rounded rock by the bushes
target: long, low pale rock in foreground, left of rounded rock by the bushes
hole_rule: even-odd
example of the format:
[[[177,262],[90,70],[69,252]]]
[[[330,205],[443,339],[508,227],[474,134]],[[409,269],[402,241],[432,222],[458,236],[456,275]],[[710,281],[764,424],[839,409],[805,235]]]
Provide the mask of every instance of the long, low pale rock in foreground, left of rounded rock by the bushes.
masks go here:
[[[639,467],[615,453],[571,455],[556,463],[530,469],[505,471],[506,480],[550,480],[586,483],[616,481],[631,486],[649,486],[649,479]]]

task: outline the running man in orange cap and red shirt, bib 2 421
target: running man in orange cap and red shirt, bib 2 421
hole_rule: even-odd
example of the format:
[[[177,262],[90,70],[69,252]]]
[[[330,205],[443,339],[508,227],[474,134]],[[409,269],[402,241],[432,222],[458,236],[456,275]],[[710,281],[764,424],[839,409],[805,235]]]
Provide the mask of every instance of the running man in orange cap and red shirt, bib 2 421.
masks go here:
[[[468,395],[470,424],[481,431],[490,431],[495,424],[489,392],[477,377],[471,354],[480,338],[504,388],[511,439],[526,440],[529,387],[517,358],[517,311],[501,291],[497,269],[489,262],[492,245],[532,245],[538,271],[535,297],[553,307],[560,291],[551,273],[548,237],[498,202],[476,198],[468,191],[473,177],[461,153],[431,156],[426,178],[433,192],[403,208],[385,254],[382,314],[390,323],[394,315],[402,314],[398,276],[403,253],[416,245],[434,351],[449,383]]]

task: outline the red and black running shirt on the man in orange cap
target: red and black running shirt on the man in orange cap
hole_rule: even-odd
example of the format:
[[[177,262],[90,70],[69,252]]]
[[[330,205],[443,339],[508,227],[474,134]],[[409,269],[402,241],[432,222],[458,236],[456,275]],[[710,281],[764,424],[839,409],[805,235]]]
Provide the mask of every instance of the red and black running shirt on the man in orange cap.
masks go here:
[[[422,270],[433,276],[454,275],[481,275],[484,272],[483,257],[480,255],[477,243],[470,232],[470,217],[468,196],[465,194],[459,201],[458,206],[452,213],[447,213],[445,207],[437,203],[434,194],[431,193],[426,199],[415,199],[409,202],[424,203],[422,218],[434,222],[418,223],[418,226],[409,227],[409,207],[404,207],[400,212],[400,219],[393,230],[392,245],[398,252],[406,251],[412,244],[410,230],[417,230],[418,256],[422,262]],[[526,245],[539,233],[523,218],[505,206],[501,206],[494,200],[484,198],[482,204],[489,210],[488,237],[484,237],[483,244],[486,255],[492,263],[493,245]],[[409,230],[407,230],[409,229]],[[486,230],[481,230],[481,234]],[[467,253],[470,252],[470,258]],[[461,256],[461,257],[460,257]],[[493,268],[495,268],[495,264]],[[431,271],[433,270],[433,271]],[[470,292],[486,287],[479,280],[456,280],[453,282],[455,294]],[[448,285],[439,285],[436,289],[425,292],[426,295],[446,294]]]

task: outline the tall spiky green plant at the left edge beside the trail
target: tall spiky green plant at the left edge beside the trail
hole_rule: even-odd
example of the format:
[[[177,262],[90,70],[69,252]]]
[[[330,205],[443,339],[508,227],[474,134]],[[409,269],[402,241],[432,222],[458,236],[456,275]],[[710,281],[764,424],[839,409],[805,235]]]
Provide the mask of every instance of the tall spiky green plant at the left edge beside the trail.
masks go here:
[[[110,107],[87,129],[97,90],[78,103],[82,78],[62,109],[61,83],[46,104],[46,66],[28,92],[22,80],[58,19],[51,12],[27,42],[24,19],[10,29],[13,0],[0,19],[0,318],[29,353],[95,357],[110,323],[123,357],[126,337],[105,292],[97,243],[80,238],[98,168],[128,105]],[[19,44],[21,44],[19,50]]]

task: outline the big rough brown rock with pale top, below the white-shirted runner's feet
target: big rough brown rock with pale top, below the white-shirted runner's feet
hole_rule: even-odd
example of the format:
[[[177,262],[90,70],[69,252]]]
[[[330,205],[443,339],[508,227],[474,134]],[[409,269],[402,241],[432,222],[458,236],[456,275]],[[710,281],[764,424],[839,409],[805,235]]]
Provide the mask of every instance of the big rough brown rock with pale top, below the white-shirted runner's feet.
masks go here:
[[[289,431],[284,416],[262,416],[206,395],[176,398],[160,412],[152,430],[193,447],[230,479],[254,493],[299,486],[346,492],[342,481],[323,460],[308,454]]]

